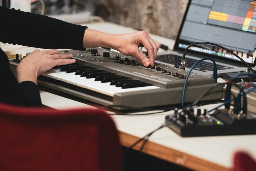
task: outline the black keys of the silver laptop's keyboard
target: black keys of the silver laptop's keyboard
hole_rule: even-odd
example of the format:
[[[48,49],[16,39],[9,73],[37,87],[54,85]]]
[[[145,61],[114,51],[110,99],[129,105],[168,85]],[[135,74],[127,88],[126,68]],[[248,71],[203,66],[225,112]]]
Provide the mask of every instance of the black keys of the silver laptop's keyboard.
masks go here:
[[[164,54],[164,55],[157,55],[157,61],[165,62],[165,63],[171,63],[176,64],[178,63],[180,66],[180,60],[182,59],[181,56],[174,55],[174,54]],[[197,59],[192,58],[186,58],[186,68],[191,68],[197,61]],[[232,67],[224,66],[224,65],[217,65],[218,70],[225,70],[225,69],[231,69]],[[194,70],[206,72],[206,71],[213,71],[213,63],[212,62],[206,62],[202,61],[200,62]]]

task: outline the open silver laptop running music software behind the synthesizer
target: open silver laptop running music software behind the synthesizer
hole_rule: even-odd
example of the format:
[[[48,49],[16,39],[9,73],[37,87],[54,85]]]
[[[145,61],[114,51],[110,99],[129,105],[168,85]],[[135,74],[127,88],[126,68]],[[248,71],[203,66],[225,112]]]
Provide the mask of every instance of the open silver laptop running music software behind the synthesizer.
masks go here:
[[[156,62],[180,65],[187,46],[202,41],[224,46],[254,67],[256,0],[189,0],[173,51],[158,53]],[[226,50],[198,45],[188,50],[185,70],[205,57],[216,61],[218,76],[227,72],[243,72],[248,68]],[[213,64],[211,61],[203,61],[192,72],[212,76]]]

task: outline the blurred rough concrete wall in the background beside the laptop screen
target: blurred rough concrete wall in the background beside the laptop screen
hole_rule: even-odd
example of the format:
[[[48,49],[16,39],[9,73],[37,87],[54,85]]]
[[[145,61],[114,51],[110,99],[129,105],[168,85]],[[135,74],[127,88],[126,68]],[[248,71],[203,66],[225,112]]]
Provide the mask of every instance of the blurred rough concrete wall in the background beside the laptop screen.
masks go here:
[[[85,0],[105,21],[175,39],[188,0]]]

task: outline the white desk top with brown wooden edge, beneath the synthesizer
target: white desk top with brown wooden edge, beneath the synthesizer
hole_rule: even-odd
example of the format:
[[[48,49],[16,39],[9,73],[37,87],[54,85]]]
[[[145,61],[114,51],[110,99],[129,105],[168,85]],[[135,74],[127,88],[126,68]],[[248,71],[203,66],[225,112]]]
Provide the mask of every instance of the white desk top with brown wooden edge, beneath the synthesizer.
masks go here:
[[[128,33],[135,32],[132,28],[119,26],[113,23],[93,23],[83,24],[89,28],[108,33]],[[160,43],[170,48],[174,45],[174,40],[151,35]],[[24,48],[19,45],[10,46],[0,44],[3,50],[13,49],[22,53],[31,52],[35,48]],[[42,103],[44,105],[63,109],[92,107],[85,103],[74,101],[49,92],[40,91]],[[63,105],[65,104],[65,106]],[[207,105],[204,108],[211,109],[215,105]],[[158,128],[163,122],[168,112],[143,116],[120,116],[111,115],[120,132],[120,141],[124,146],[129,147],[138,138]],[[235,151],[245,150],[256,157],[256,135],[240,136],[211,136],[211,137],[190,137],[182,138],[168,128],[163,128],[155,132],[150,141],[143,148],[143,152],[152,156],[176,163],[194,170],[230,170],[232,167],[232,157]],[[141,144],[135,148],[139,149]]]

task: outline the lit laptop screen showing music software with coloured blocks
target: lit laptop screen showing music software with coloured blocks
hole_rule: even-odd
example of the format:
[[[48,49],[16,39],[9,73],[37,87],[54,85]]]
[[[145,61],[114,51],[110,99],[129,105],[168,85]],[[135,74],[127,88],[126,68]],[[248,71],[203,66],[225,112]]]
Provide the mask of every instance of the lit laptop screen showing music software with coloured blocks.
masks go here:
[[[190,0],[182,21],[175,49],[207,41],[232,50],[247,63],[255,61],[256,0]],[[208,45],[191,51],[240,61],[229,52]]]

